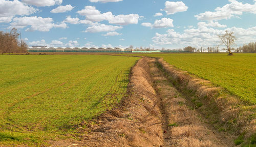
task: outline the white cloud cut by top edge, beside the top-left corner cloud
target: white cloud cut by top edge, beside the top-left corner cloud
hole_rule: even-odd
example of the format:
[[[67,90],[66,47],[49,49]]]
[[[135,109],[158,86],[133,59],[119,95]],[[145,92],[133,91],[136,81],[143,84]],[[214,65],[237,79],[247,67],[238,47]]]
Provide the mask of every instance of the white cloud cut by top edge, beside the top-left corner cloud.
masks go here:
[[[22,2],[38,7],[60,5],[62,0],[22,0]]]

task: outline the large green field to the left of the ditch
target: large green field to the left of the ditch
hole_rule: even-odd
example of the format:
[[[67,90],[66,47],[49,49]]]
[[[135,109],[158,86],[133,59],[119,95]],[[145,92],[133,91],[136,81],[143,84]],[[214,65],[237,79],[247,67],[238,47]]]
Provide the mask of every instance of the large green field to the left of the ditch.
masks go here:
[[[107,55],[0,55],[0,146],[38,145],[75,133],[75,125],[120,101],[137,60]]]

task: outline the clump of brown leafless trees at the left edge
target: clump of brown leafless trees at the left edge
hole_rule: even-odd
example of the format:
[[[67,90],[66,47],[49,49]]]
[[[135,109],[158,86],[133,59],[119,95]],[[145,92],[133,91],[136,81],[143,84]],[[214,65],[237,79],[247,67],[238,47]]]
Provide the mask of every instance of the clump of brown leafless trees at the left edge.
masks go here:
[[[0,31],[0,53],[26,53],[28,45],[19,37],[16,28],[6,33]]]

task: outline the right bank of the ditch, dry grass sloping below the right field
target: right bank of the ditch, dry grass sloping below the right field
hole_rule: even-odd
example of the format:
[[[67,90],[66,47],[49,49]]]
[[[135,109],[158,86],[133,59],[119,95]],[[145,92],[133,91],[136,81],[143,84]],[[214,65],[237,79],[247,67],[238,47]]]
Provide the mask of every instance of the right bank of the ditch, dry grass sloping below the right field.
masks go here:
[[[246,132],[247,138],[255,132],[255,121],[248,121],[248,116],[255,113],[251,110],[244,110],[246,106],[238,98],[231,96],[224,89],[216,87],[210,81],[197,78],[177,68],[170,66],[162,59],[158,60],[163,70],[178,82],[178,89],[181,91],[192,91],[196,94],[196,98],[203,104],[199,109],[202,115],[211,115],[211,121],[216,120],[219,127],[232,130],[234,133],[240,134]],[[177,117],[177,116],[176,116]],[[179,116],[178,116],[179,117]],[[234,121],[236,120],[236,121]]]

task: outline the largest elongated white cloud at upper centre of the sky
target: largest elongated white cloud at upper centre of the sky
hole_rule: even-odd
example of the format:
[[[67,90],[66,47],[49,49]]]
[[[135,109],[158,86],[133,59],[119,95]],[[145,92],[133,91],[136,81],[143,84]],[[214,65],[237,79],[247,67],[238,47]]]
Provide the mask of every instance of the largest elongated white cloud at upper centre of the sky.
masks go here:
[[[137,24],[140,16],[138,14],[129,15],[113,15],[112,12],[101,13],[94,6],[86,6],[84,9],[77,11],[78,14],[86,16],[86,20],[100,22],[103,20],[109,21],[112,24],[128,25]]]

